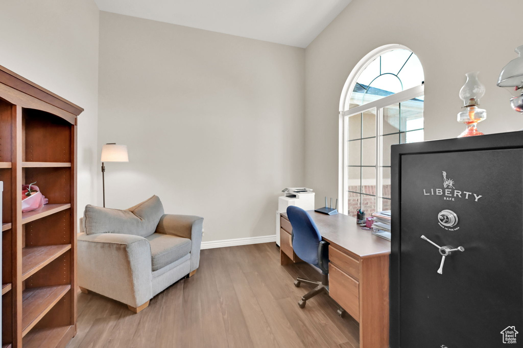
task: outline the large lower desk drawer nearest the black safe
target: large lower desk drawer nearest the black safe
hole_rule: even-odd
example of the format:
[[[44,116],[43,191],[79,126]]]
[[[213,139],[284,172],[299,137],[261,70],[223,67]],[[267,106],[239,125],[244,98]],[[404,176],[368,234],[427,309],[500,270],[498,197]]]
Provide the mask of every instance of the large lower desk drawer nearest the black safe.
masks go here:
[[[328,267],[329,295],[359,322],[359,283],[332,263]]]

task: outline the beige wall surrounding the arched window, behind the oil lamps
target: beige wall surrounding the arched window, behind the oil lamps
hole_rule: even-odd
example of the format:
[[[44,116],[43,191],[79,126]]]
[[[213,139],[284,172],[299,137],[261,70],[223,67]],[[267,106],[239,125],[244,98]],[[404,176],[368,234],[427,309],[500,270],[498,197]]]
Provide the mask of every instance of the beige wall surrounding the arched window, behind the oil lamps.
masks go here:
[[[465,73],[480,70],[486,86],[481,107],[485,134],[518,130],[510,94],[496,87],[503,66],[523,44],[511,26],[520,0],[353,0],[305,50],[305,184],[316,203],[338,194],[338,111],[344,83],[376,47],[398,43],[416,53],[425,70],[425,139],[453,138]]]

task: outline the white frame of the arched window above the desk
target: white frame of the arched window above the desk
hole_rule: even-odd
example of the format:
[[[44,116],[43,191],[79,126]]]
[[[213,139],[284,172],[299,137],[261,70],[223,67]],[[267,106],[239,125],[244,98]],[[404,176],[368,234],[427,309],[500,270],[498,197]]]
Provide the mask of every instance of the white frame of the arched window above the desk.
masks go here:
[[[350,116],[358,115],[366,111],[374,110],[376,114],[376,210],[382,210],[381,198],[382,194],[382,129],[383,129],[383,109],[397,103],[406,102],[408,100],[421,97],[425,94],[425,85],[418,85],[401,92],[397,92],[381,99],[369,102],[367,104],[347,109],[349,105],[350,95],[356,86],[357,79],[361,72],[379,56],[393,50],[408,50],[413,52],[408,47],[399,44],[390,44],[378,47],[371,51],[355,66],[351,71],[339,102],[339,172],[338,172],[338,197],[340,197],[339,211],[343,214],[348,214],[348,118]],[[425,128],[425,127],[424,127]]]

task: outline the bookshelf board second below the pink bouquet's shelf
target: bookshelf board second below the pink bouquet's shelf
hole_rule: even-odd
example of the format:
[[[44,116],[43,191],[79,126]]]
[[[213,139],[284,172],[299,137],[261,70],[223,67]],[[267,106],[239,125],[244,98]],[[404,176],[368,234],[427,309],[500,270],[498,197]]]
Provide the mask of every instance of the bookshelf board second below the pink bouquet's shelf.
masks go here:
[[[22,337],[71,289],[71,285],[31,287],[22,292]]]

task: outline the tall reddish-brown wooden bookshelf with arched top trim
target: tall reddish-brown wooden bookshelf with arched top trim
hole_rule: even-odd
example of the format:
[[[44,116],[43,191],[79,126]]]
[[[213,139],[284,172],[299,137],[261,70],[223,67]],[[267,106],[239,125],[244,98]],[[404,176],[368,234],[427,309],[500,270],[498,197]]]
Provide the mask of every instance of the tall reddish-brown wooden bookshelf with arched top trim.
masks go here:
[[[0,66],[2,347],[76,334],[76,138],[83,109]],[[49,203],[22,213],[21,186]]]

